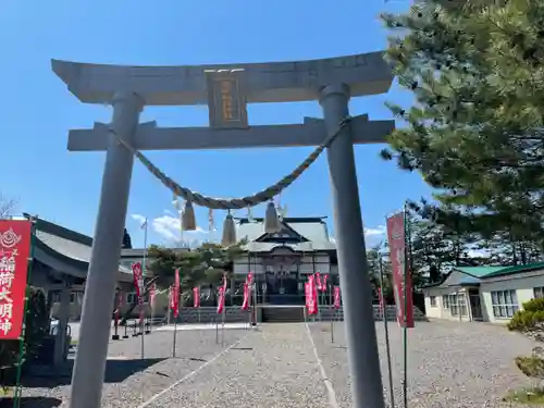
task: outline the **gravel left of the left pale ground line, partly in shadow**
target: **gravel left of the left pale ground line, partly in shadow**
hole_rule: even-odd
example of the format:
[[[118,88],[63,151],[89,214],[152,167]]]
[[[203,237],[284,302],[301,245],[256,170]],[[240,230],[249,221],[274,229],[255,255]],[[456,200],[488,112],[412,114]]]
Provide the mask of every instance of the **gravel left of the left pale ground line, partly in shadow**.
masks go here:
[[[102,407],[132,408],[160,391],[169,387],[183,376],[198,369],[226,347],[247,335],[246,330],[225,330],[224,344],[215,343],[215,331],[178,331],[176,358],[172,356],[172,331],[153,332],[145,337],[146,360],[141,362],[140,337],[111,342],[108,350],[108,368],[102,391]],[[220,337],[221,338],[221,337]],[[59,398],[62,407],[67,406],[70,396],[70,370],[55,384],[53,379],[44,379],[41,387],[23,388],[24,408],[54,406],[50,399],[42,404],[32,397]],[[49,383],[47,383],[49,381]]]

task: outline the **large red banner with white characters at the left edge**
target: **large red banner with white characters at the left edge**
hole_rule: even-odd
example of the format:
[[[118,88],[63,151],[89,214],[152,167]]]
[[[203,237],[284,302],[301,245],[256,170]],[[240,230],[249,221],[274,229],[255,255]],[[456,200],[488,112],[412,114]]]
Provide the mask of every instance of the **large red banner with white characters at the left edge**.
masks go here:
[[[0,220],[0,339],[21,336],[32,222]]]

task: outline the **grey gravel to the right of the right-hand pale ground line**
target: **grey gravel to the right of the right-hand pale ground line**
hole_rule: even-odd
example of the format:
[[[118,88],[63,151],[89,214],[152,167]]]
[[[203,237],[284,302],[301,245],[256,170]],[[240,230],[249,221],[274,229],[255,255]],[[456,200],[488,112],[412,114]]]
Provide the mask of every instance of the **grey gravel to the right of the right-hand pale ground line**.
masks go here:
[[[343,323],[310,325],[316,347],[341,408],[350,407],[350,382]],[[384,394],[388,376],[383,323],[376,323]],[[395,406],[401,407],[403,335],[390,323]],[[510,407],[500,399],[508,390],[530,386],[514,358],[530,355],[535,343],[489,323],[433,321],[417,323],[408,335],[408,403],[410,408]]]

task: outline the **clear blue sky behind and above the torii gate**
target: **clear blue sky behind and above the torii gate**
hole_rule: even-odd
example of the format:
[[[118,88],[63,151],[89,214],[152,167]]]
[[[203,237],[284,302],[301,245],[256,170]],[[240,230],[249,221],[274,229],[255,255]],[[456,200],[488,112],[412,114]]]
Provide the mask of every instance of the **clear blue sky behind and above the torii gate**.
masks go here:
[[[18,211],[92,234],[104,153],[69,152],[67,131],[91,127],[95,121],[109,122],[111,111],[78,102],[51,72],[51,58],[175,65],[370,52],[386,47],[387,34],[378,18],[380,12],[403,11],[408,5],[403,0],[3,2],[1,193],[18,200]],[[394,86],[387,95],[354,99],[350,113],[391,119],[384,107],[386,100],[407,103],[410,95]],[[251,124],[300,123],[304,116],[321,115],[317,102],[254,104],[248,112]],[[162,126],[207,126],[208,113],[205,107],[148,108],[141,121],[149,120]],[[356,147],[362,217],[374,233],[384,224],[385,215],[401,208],[405,199],[430,196],[419,175],[407,174],[379,158],[383,147]],[[275,183],[309,151],[172,151],[149,152],[149,157],[184,186],[217,197],[234,197]],[[325,157],[281,200],[292,217],[327,215],[334,234]],[[136,163],[126,220],[134,245],[143,245],[137,215],[149,218],[150,242],[163,243],[168,231],[175,236],[175,219],[169,213],[172,210],[171,193]],[[262,213],[263,208],[254,212]],[[207,212],[197,210],[197,217],[198,224],[207,230]],[[218,225],[223,218],[220,212],[215,214]],[[191,239],[206,235],[194,233]]]

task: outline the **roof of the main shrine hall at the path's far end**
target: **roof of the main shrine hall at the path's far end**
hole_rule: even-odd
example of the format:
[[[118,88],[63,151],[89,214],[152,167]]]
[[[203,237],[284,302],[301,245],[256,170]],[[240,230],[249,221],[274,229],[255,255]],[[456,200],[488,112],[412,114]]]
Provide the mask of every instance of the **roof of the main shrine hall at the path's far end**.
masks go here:
[[[263,219],[237,219],[236,236],[248,239],[245,249],[251,252],[268,252],[277,246],[288,246],[296,251],[335,250],[324,220],[325,217],[287,217],[282,219],[282,232],[267,234]]]

